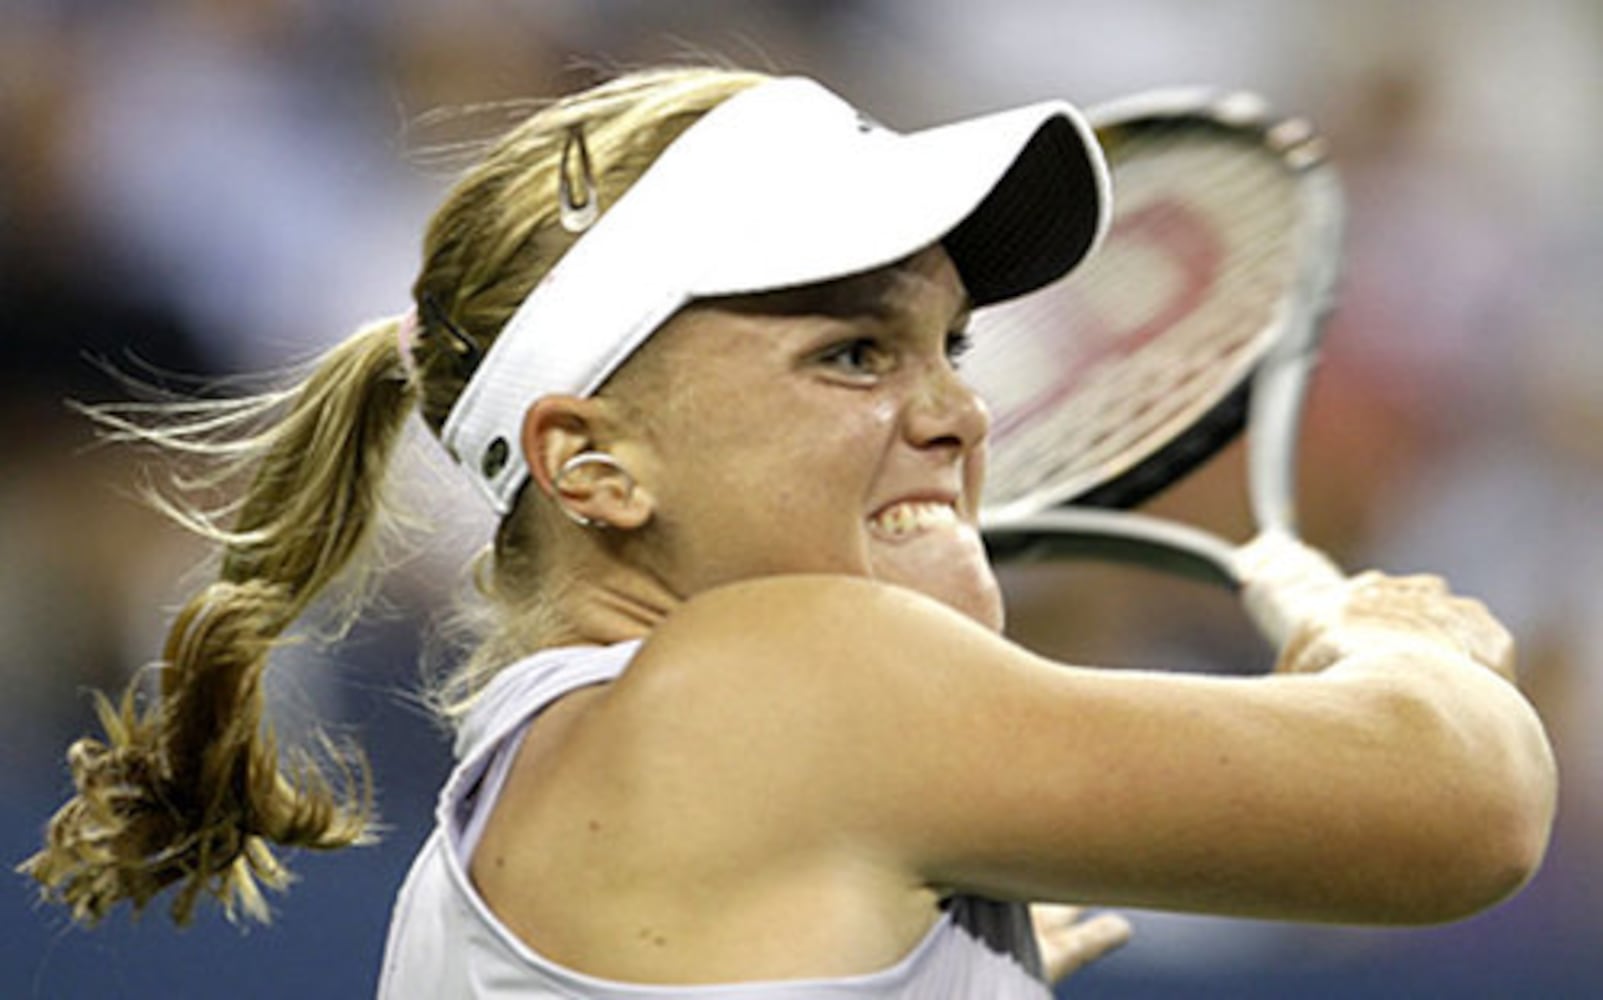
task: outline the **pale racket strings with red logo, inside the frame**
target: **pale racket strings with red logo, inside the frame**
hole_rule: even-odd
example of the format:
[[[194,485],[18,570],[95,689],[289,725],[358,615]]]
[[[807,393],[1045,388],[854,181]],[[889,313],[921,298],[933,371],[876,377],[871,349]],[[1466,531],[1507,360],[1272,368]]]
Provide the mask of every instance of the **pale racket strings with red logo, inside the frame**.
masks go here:
[[[1258,143],[1149,128],[1109,159],[1116,213],[1096,256],[976,317],[967,373],[994,415],[989,510],[1072,498],[1177,438],[1246,380],[1295,280],[1295,178]]]

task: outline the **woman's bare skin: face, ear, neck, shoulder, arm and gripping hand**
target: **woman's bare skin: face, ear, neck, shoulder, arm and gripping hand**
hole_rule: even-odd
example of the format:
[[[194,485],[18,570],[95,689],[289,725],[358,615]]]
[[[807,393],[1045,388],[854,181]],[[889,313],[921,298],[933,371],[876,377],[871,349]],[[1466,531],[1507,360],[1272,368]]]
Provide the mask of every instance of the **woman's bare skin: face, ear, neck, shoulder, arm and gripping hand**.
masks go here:
[[[519,752],[471,867],[513,933],[737,982],[886,968],[952,893],[1430,923],[1529,877],[1552,755],[1472,601],[1364,579],[1300,646],[1334,659],[1252,679],[1002,638],[963,317],[931,250],[701,303],[616,396],[531,407],[537,482],[603,526],[553,514],[564,641],[646,643]],[[553,489],[588,449],[628,476]]]

